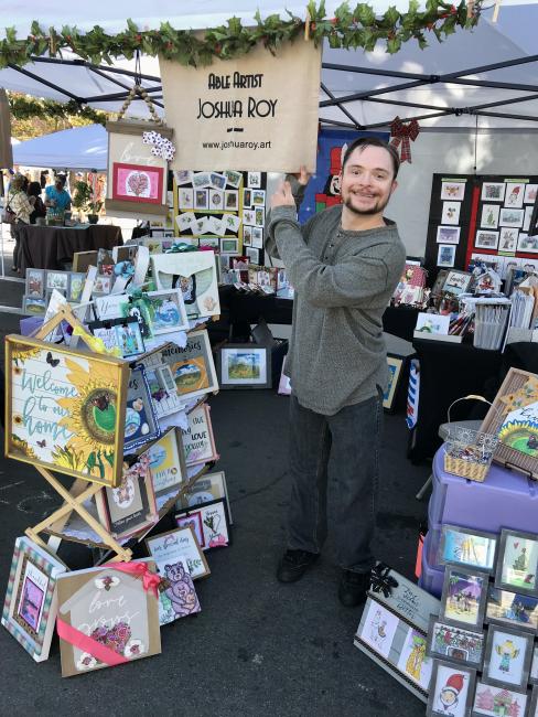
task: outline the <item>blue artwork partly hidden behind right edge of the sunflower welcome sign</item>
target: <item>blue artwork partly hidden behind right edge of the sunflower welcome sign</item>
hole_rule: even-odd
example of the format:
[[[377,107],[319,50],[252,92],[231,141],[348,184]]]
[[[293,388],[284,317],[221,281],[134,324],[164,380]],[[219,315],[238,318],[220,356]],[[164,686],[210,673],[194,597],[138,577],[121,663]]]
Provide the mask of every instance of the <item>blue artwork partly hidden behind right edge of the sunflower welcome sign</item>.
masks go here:
[[[123,452],[131,453],[139,446],[161,435],[151,400],[143,366],[131,370],[127,389],[126,439]]]

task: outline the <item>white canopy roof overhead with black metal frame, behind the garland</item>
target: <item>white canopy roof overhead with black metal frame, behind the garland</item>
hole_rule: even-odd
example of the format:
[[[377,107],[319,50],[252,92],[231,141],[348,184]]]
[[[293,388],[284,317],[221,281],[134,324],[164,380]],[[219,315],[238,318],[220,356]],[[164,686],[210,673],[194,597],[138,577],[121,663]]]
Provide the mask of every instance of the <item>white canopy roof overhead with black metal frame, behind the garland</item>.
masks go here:
[[[327,2],[326,14],[341,2]],[[389,4],[407,10],[408,1],[377,0],[376,11]],[[284,17],[276,0],[260,0],[262,17],[273,12]],[[139,9],[140,8],[140,9]],[[254,23],[254,6],[246,0],[234,3],[202,0],[195,11],[179,9],[174,0],[161,0],[148,8],[120,0],[96,0],[88,7],[66,8],[60,0],[47,4],[47,25],[76,24],[89,30],[98,24],[107,32],[126,26],[131,17],[140,29],[158,29],[163,19],[177,29],[213,28],[230,17]],[[153,9],[153,13],[151,10]],[[305,2],[288,9],[304,18]],[[26,36],[35,8],[28,0],[13,3],[11,24],[19,36]],[[430,46],[421,51],[417,42],[402,45],[389,55],[379,45],[374,52],[331,50],[323,53],[320,118],[322,124],[355,128],[381,127],[399,115],[418,117],[422,129],[473,127],[478,117],[482,128],[538,128],[538,84],[535,29],[538,2],[504,0],[498,23],[492,23],[493,9],[483,12],[473,32],[458,30],[444,42],[432,34]],[[116,60],[111,67],[97,66],[74,55],[63,58],[36,57],[22,67],[0,71],[0,86],[35,96],[80,104],[106,110],[119,110],[133,83],[134,63]],[[142,56],[143,86],[164,114],[159,63]],[[128,115],[148,117],[146,104],[131,103]]]

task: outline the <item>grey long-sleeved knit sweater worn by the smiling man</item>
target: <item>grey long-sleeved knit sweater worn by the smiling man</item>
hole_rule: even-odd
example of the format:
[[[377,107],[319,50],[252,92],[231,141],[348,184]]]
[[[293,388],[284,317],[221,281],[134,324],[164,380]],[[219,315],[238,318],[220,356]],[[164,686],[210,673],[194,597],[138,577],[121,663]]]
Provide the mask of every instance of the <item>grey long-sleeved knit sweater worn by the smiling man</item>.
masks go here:
[[[266,249],[295,289],[286,373],[301,406],[332,416],[385,390],[381,317],[406,260],[396,224],[344,232],[341,205],[302,227],[291,206],[268,218]]]

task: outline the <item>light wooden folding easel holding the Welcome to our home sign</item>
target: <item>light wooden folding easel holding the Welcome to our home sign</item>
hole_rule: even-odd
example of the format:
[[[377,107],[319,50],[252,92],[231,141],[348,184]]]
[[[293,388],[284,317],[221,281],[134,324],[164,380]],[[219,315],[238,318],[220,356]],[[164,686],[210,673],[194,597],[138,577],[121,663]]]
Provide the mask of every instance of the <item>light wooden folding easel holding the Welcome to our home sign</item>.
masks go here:
[[[94,336],[87,333],[86,328],[80,321],[75,317],[71,307],[62,307],[60,311],[34,334],[35,339],[45,339],[50,333],[56,329],[56,327],[62,322],[66,321],[73,329],[77,328],[78,335],[89,347],[94,347],[93,340]],[[54,475],[42,467],[35,467],[39,473],[49,482],[50,485],[62,496],[64,504],[52,513],[49,517],[33,527],[26,528],[24,533],[34,541],[37,545],[45,549],[51,549],[51,546],[47,546],[46,543],[40,537],[40,533],[43,531],[51,531],[52,533],[62,533],[69,514],[75,511],[79,517],[88,525],[92,531],[94,531],[103,541],[103,544],[115,553],[109,561],[116,563],[120,560],[129,561],[132,558],[132,552],[122,548],[121,545],[110,535],[110,533],[97,521],[85,507],[84,502],[88,499],[92,499],[96,493],[98,493],[103,485],[100,483],[95,483],[93,481],[86,481],[84,479],[77,478],[73,483],[71,490],[67,490],[62,485],[62,483],[54,478]],[[64,536],[68,539],[68,536]]]

